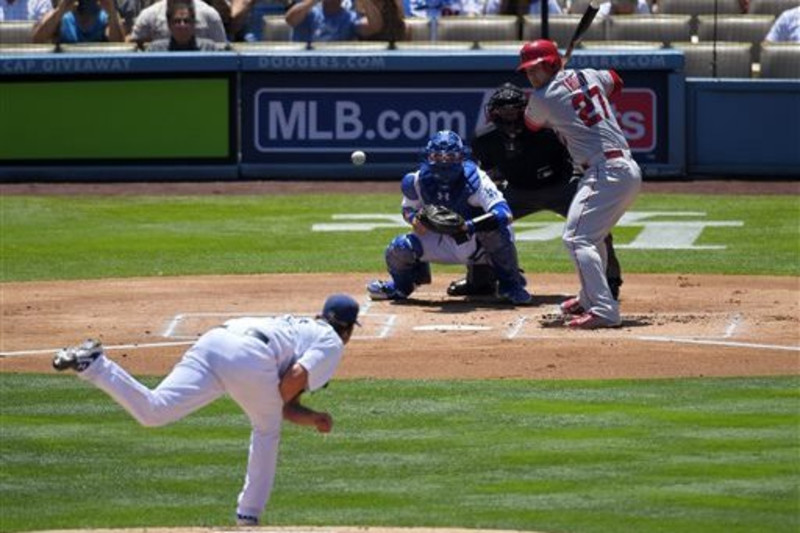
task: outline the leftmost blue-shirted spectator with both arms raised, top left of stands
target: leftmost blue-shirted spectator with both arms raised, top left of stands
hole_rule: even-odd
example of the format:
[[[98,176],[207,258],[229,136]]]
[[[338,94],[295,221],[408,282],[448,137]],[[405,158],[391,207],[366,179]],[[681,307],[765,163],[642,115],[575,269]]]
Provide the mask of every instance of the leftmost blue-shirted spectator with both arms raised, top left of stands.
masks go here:
[[[114,0],[61,0],[42,19],[37,42],[122,42],[125,30]]]

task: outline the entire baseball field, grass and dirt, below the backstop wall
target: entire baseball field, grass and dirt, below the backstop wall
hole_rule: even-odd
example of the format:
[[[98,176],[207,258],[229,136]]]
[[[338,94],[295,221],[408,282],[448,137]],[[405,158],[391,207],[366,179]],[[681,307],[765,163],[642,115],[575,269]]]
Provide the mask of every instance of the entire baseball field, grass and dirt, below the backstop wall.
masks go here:
[[[0,185],[0,530],[231,528],[249,424],[164,428],[50,368],[86,337],[149,385],[243,315],[361,322],[321,436],[287,425],[264,529],[800,529],[800,184],[646,183],[614,230],[623,327],[545,327],[578,288],[540,214],[534,305],[370,302],[404,231],[394,183]],[[299,529],[298,529],[299,528]],[[314,529],[316,531],[316,529]]]

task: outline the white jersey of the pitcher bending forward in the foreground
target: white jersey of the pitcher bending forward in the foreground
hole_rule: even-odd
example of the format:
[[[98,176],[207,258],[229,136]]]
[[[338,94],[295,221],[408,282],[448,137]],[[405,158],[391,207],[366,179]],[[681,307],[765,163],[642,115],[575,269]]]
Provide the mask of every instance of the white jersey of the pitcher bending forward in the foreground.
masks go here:
[[[279,318],[234,318],[225,327],[238,334],[255,329],[269,339],[266,353],[275,357],[283,376],[295,363],[308,371],[308,390],[314,391],[333,377],[344,344],[323,320],[285,315]]]

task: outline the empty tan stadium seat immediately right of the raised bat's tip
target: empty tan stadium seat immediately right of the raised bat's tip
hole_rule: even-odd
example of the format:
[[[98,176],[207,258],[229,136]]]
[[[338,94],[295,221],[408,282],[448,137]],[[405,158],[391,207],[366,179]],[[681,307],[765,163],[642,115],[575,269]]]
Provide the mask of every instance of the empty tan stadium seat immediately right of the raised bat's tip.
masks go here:
[[[691,15],[619,15],[608,17],[610,41],[690,41]]]

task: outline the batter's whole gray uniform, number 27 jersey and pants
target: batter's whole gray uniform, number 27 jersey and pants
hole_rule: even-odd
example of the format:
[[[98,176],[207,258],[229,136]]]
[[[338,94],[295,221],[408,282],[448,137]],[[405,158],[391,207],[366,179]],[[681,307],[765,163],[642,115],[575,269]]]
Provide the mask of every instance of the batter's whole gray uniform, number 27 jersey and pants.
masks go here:
[[[603,239],[636,199],[639,165],[608,101],[622,80],[609,70],[562,70],[534,90],[525,110],[531,129],[558,133],[573,161],[584,169],[570,205],[563,241],[578,269],[581,306],[609,324],[619,324],[619,304],[606,280]]]

